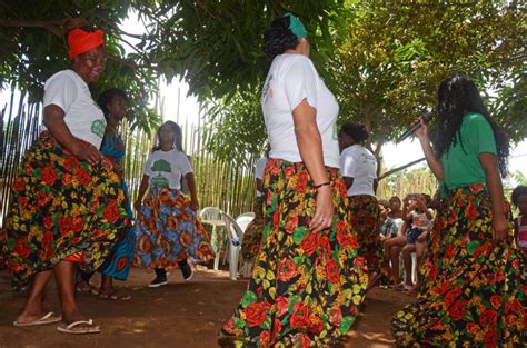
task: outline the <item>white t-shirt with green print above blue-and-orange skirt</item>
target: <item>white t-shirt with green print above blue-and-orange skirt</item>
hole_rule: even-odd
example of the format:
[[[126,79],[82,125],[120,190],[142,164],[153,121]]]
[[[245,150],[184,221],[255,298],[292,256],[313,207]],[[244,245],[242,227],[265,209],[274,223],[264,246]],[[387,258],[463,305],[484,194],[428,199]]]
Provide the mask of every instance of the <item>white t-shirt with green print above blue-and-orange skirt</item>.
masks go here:
[[[149,177],[148,183],[155,187],[181,189],[181,176],[192,172],[192,166],[183,152],[156,150],[147,159],[143,173]]]

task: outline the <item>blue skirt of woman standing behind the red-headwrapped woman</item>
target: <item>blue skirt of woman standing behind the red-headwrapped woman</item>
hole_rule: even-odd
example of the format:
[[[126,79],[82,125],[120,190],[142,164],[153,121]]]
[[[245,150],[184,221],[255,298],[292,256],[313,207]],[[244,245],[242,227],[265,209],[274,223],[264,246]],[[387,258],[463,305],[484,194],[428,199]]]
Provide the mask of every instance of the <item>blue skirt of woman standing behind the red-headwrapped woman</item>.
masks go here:
[[[122,190],[127,198],[126,208],[128,218],[133,221],[133,213],[130,207],[130,197],[128,196],[128,187],[122,181]],[[108,255],[105,264],[98,269],[102,275],[109,276],[119,280],[127,280],[130,267],[133,261],[133,253],[136,252],[136,230],[130,225],[127,228],[119,230],[117,242]]]

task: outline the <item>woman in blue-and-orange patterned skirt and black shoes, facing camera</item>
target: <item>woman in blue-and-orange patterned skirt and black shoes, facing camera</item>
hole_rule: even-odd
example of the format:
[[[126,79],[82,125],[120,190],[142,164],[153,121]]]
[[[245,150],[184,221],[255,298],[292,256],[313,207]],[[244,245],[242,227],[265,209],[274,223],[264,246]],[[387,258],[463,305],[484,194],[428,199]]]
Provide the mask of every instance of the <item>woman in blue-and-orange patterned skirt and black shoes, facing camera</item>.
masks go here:
[[[190,200],[181,192],[185,176]],[[145,193],[148,193],[143,199]],[[192,278],[187,258],[207,262],[215,255],[209,236],[199,221],[196,181],[190,161],[182,150],[181,128],[172,121],[158,130],[158,146],[145,165],[135,203],[137,251],[135,264],[156,271],[149,287],[168,284],[167,268],[178,266],[185,280]]]

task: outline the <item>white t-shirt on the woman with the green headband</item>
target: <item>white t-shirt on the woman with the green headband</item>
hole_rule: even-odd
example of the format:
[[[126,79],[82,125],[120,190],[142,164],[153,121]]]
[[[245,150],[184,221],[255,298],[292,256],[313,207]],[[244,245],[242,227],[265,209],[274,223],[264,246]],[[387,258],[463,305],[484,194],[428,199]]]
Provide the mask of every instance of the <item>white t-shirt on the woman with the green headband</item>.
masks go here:
[[[271,151],[269,158],[300,162],[292,110],[304,100],[317,109],[324,163],[339,167],[338,102],[320,79],[311,60],[302,54],[280,54],[272,61],[261,95],[261,107]]]

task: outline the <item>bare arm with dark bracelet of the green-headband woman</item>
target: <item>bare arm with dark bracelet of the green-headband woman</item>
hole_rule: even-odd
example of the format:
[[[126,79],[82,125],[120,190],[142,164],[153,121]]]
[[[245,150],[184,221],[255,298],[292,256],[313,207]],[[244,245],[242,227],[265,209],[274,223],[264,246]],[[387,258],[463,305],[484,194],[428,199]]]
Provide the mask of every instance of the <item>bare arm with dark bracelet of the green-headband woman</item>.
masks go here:
[[[317,127],[317,110],[304,99],[294,110],[295,136],[297,138],[300,157],[306,165],[314,183],[328,182],[328,175],[324,166],[322,142]],[[322,186],[317,190],[317,203],[310,228],[319,232],[331,227],[334,217],[331,186]]]

